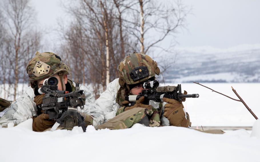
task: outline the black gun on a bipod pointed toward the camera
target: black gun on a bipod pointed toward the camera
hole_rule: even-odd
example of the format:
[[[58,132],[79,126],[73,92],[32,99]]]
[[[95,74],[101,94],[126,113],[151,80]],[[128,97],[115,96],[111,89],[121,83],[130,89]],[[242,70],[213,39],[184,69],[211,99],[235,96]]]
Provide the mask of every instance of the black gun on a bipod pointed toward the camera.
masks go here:
[[[84,118],[77,112],[77,107],[84,108],[85,95],[83,90],[79,90],[79,83],[76,83],[76,90],[73,92],[58,90],[58,79],[50,77],[43,81],[43,86],[38,90],[43,96],[41,110],[49,114],[49,119],[55,119],[56,123],[51,131],[57,129],[59,125],[65,128],[73,128],[78,125],[86,131]]]

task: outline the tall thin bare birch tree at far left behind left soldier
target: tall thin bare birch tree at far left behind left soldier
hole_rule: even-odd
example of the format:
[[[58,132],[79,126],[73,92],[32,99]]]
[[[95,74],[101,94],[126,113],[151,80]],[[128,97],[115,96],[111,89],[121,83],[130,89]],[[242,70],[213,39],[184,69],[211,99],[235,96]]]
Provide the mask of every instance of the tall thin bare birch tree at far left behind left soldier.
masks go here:
[[[25,64],[28,63],[35,49],[39,47],[39,32],[34,32],[33,23],[34,11],[29,6],[29,0],[5,0],[2,2],[4,18],[6,20],[7,33],[10,35],[6,40],[9,42],[10,68],[13,76],[13,96],[17,96],[18,82],[25,80]],[[37,40],[35,40],[37,39]],[[33,53],[28,53],[33,52]],[[26,63],[25,63],[26,62]],[[12,73],[11,73],[12,74]],[[11,75],[9,74],[9,75]]]

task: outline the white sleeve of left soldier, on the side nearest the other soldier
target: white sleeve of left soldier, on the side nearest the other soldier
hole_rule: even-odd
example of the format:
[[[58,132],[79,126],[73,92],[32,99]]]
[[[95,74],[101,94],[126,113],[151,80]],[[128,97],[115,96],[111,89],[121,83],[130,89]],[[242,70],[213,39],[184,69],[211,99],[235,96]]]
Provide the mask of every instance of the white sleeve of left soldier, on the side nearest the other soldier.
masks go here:
[[[80,90],[84,90],[86,101],[84,105],[85,114],[90,115],[93,118],[93,126],[97,126],[103,123],[104,113],[100,106],[96,104],[96,100],[93,94],[90,92],[89,88],[80,85]]]

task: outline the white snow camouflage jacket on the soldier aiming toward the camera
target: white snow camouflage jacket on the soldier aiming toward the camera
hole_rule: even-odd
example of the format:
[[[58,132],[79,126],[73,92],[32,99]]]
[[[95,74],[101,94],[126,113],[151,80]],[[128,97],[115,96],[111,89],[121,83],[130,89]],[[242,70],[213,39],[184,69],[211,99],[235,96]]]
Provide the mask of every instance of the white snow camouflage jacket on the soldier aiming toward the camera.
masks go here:
[[[73,85],[76,86],[74,82]],[[79,88],[80,90],[84,90],[86,96],[86,102],[83,109],[85,114],[93,117],[94,126],[102,124],[104,121],[103,111],[95,104],[93,94],[90,92],[89,88],[81,84],[79,85]],[[9,108],[7,108],[5,114],[0,118],[0,126],[7,126],[9,122],[18,125],[33,116],[37,116],[36,104],[33,102],[34,97],[35,94],[33,88],[28,87],[25,90],[25,93],[15,100]],[[80,110],[78,111],[80,112]]]

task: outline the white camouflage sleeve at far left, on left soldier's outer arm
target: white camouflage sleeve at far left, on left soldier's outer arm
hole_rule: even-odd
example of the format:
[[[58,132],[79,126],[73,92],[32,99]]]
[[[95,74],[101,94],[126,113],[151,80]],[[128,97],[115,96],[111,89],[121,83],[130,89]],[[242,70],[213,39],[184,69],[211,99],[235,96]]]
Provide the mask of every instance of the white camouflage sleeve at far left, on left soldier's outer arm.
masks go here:
[[[15,102],[11,104],[7,111],[0,119],[0,126],[7,126],[8,123],[13,122],[15,125],[32,118],[35,114],[36,106],[28,94],[23,94]]]

